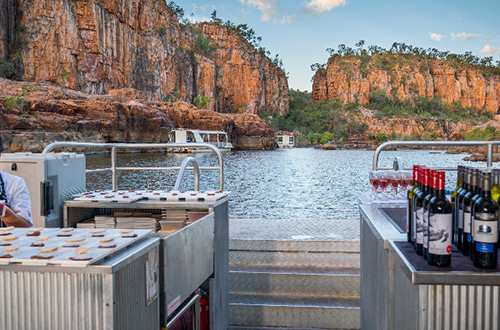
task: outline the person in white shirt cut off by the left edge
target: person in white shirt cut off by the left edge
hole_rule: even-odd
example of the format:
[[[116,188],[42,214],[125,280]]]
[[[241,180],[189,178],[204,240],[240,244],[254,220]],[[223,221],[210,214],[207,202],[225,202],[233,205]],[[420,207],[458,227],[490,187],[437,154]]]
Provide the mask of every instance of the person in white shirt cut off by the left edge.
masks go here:
[[[0,134],[0,155],[3,136]],[[0,200],[5,201],[5,215],[0,217],[0,227],[31,227],[31,201],[24,179],[0,171]]]

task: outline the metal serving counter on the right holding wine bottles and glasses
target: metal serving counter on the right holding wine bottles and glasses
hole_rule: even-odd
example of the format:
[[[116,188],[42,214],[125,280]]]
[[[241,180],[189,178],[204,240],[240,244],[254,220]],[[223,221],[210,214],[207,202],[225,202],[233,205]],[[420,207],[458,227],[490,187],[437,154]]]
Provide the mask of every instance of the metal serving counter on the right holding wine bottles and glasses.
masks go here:
[[[458,251],[450,267],[429,266],[387,207],[359,207],[361,328],[499,329],[499,269],[481,271]]]

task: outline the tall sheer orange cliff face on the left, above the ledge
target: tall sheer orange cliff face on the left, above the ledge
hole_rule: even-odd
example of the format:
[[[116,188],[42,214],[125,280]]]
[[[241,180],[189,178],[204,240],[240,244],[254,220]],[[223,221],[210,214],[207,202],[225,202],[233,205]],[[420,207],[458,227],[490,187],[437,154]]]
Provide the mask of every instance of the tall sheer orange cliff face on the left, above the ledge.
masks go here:
[[[90,94],[134,88],[150,101],[193,103],[255,114],[288,111],[284,72],[241,36],[219,24],[180,25],[165,1],[6,0],[17,5],[24,80]],[[4,8],[2,8],[3,10]],[[0,55],[12,53],[12,20],[0,14]],[[8,29],[7,29],[8,28]],[[200,51],[199,36],[215,51]],[[20,42],[21,43],[21,42]]]

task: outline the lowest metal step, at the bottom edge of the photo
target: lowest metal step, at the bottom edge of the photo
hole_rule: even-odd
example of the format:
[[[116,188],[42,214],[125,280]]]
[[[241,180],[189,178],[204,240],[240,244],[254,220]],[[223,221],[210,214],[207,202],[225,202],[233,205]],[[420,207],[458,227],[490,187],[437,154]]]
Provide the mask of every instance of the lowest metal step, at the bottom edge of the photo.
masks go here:
[[[231,295],[232,327],[359,329],[359,299]]]

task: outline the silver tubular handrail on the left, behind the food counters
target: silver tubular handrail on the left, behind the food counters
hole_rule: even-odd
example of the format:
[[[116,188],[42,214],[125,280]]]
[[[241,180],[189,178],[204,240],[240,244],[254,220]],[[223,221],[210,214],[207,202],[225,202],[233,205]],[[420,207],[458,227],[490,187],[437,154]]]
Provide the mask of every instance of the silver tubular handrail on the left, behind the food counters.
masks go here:
[[[173,167],[117,167],[116,166],[116,151],[118,149],[168,149],[168,148],[206,148],[216,154],[219,161],[219,166],[213,167],[198,167],[195,164],[193,167],[185,167],[185,170],[195,171],[196,185],[196,168],[199,170],[216,170],[219,171],[219,189],[224,190],[224,161],[220,150],[209,143],[87,143],[87,142],[52,142],[43,149],[42,154],[48,154],[55,148],[100,148],[111,149],[111,167],[103,169],[86,170],[87,173],[111,171],[112,173],[112,189],[116,189],[116,173],[117,171],[133,171],[133,170],[150,170],[150,171],[180,171],[182,166]],[[192,157],[191,157],[192,158]],[[186,164],[187,165],[187,164]]]

